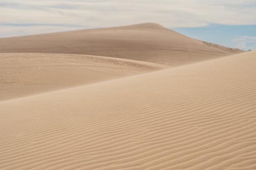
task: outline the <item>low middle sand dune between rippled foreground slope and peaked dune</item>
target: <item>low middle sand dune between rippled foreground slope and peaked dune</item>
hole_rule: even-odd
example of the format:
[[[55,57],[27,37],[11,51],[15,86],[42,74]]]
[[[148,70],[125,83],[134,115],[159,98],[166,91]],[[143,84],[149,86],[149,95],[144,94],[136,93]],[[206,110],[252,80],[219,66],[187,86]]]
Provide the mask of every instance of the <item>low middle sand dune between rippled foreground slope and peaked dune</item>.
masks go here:
[[[0,53],[0,100],[126,77],[167,66],[90,55]]]

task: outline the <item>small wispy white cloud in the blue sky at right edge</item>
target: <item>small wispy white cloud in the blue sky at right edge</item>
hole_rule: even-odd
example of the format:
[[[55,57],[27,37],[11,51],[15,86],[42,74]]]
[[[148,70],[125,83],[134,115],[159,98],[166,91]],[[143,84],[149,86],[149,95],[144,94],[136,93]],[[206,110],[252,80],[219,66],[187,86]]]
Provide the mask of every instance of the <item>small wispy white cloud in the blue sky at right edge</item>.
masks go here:
[[[256,37],[243,36],[232,40],[236,42],[236,47],[243,50],[256,49]]]

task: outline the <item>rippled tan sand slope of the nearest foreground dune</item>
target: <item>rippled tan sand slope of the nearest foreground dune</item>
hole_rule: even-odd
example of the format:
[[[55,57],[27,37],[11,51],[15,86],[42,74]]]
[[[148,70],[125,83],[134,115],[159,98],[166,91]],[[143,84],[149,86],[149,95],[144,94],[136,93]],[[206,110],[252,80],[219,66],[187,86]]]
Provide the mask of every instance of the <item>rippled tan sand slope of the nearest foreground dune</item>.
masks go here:
[[[255,56],[0,102],[0,169],[253,170]]]

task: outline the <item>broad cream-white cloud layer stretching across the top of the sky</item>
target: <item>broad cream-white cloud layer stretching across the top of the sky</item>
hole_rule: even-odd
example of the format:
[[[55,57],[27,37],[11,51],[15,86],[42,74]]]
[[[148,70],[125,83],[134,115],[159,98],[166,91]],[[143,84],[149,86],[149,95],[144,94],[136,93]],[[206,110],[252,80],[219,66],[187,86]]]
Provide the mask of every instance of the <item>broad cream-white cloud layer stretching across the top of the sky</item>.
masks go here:
[[[197,27],[256,24],[255,16],[255,0],[0,0],[2,26],[73,24],[95,28],[156,22],[169,28]]]

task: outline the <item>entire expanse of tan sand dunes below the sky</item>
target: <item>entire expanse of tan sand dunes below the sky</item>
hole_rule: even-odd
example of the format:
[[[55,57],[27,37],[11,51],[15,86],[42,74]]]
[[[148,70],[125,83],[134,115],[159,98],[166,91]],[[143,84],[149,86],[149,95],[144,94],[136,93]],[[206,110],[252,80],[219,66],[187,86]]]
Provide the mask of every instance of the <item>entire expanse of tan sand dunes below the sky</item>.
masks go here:
[[[0,170],[256,170],[256,51],[158,24],[0,39]]]

